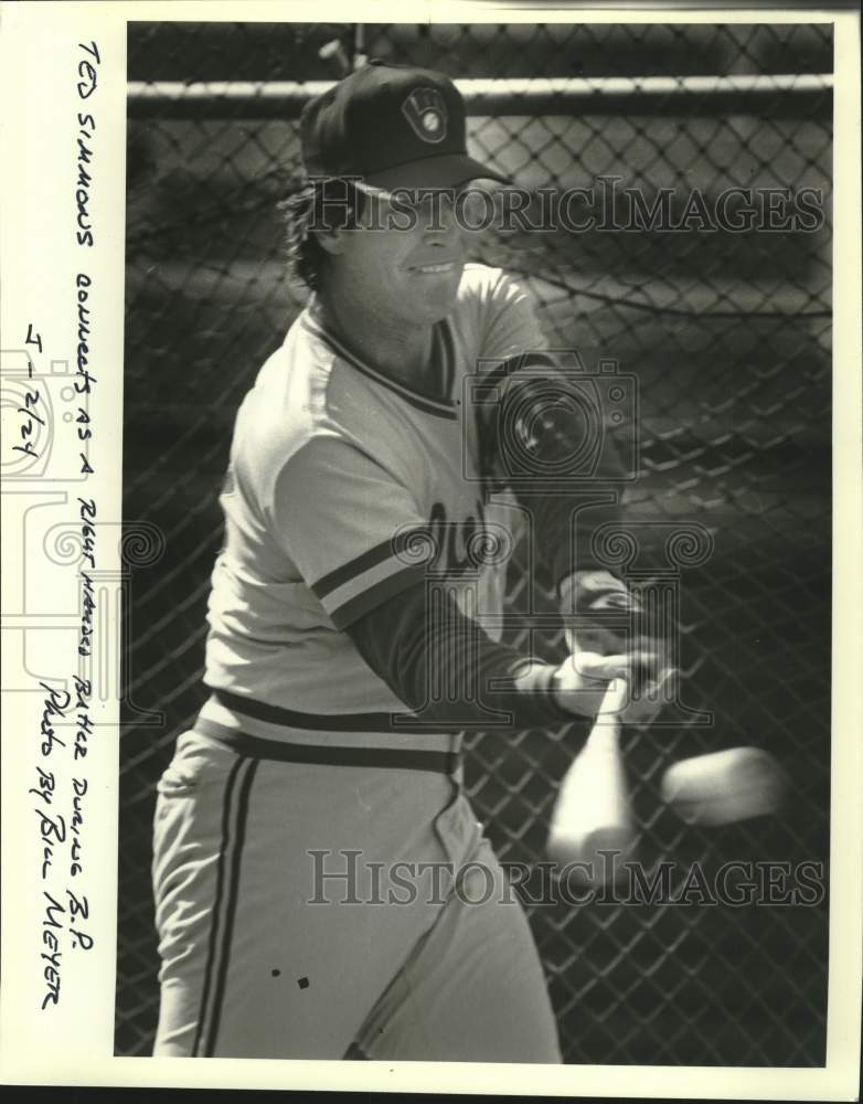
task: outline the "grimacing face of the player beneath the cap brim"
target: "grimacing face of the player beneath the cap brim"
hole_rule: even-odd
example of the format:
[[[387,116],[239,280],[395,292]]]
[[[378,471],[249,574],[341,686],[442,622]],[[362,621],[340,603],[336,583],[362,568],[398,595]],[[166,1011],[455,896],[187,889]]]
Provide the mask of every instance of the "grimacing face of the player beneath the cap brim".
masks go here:
[[[370,312],[408,326],[450,314],[466,259],[452,194],[417,204],[369,198],[361,222],[344,235],[342,261]]]

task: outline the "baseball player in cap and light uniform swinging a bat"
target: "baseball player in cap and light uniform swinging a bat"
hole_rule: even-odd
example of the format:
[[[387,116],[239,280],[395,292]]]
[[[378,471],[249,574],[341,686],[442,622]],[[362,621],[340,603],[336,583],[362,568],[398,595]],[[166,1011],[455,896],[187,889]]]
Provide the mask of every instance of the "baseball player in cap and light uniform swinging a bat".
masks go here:
[[[301,142],[312,295],[237,414],[210,697],[159,783],[155,1052],[558,1062],[461,732],[589,716],[650,652],[554,666],[496,639],[518,503],[464,384],[494,365],[507,392],[545,341],[524,290],[467,263],[452,197],[503,178],[467,156],[455,85],[372,63],[309,104]],[[441,190],[433,220],[395,202],[420,187]],[[542,453],[542,421],[516,432]],[[567,602],[629,607],[599,565],[573,573],[560,502],[533,507]]]

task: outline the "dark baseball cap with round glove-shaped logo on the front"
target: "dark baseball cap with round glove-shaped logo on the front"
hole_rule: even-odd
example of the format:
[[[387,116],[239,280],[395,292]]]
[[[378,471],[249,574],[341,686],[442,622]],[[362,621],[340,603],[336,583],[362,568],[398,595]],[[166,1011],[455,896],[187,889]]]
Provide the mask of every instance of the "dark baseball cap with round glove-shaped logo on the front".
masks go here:
[[[306,105],[300,141],[310,177],[360,177],[364,191],[510,183],[468,157],[461,93],[433,70],[369,62]]]

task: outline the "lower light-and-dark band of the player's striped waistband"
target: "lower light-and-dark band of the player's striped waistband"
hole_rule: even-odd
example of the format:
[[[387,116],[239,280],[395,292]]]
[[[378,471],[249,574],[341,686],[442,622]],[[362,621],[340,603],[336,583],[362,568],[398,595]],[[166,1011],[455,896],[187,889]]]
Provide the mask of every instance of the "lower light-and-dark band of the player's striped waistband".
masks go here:
[[[461,765],[460,752],[433,752],[417,747],[334,747],[327,744],[289,744],[281,740],[265,740],[247,732],[225,729],[199,716],[194,731],[217,741],[239,755],[251,758],[277,760],[280,763],[321,763],[329,766],[365,766],[403,771],[433,771],[435,774],[456,773]]]

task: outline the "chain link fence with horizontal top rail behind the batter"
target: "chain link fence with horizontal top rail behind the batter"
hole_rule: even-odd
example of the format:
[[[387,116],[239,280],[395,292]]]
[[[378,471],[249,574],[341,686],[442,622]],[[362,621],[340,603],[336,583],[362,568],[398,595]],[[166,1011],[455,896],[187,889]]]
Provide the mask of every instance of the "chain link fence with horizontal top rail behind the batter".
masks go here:
[[[696,190],[710,211],[733,188],[813,190],[819,216],[785,229],[695,216],[673,231],[516,226],[472,235],[472,253],[529,284],[551,344],[638,376],[630,517],[713,535],[710,561],[683,573],[681,618],[685,700],[715,724],[625,733],[642,862],[673,861],[678,885],[694,862],[710,881],[731,860],[822,863],[825,878],[831,26],[130,24],[124,517],[158,526],[164,550],[134,570],[127,611],[121,1054],[148,1054],[156,1026],[155,784],[203,700],[233,417],[303,301],[286,279],[276,203],[298,168],[303,97],[358,55],[464,82],[470,151],[526,188],[600,181],[606,197],[632,189],[648,204],[665,189],[678,222]],[[525,585],[513,573],[511,605]],[[562,634],[542,646],[561,655]],[[468,789],[503,860],[542,857],[578,735],[467,740]],[[706,829],[663,807],[670,763],[739,744],[788,772],[781,817]],[[823,1063],[825,898],[760,896],[528,900],[566,1061]]]

